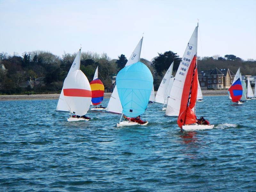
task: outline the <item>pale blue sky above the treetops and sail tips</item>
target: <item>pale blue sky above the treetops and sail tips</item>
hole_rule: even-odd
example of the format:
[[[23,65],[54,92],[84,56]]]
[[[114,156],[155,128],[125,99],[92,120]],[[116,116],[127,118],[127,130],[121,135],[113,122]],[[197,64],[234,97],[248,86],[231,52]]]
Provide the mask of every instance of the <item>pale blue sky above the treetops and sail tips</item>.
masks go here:
[[[256,60],[256,1],[0,0],[0,52],[43,50],[130,57],[143,35],[141,58],[173,51],[182,57],[199,20],[200,57],[233,54]]]

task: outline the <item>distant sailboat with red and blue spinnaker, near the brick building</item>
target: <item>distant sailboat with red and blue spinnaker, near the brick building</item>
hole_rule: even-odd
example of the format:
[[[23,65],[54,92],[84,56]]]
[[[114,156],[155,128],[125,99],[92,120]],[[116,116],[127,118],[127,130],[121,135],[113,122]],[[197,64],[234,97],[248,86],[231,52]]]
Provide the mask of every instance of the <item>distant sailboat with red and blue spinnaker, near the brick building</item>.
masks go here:
[[[239,67],[236,72],[236,76],[234,77],[233,83],[231,87],[228,89],[230,93],[230,97],[232,98],[232,102],[236,102],[237,104],[242,104],[240,100],[243,95],[243,87],[241,82],[242,76],[240,74],[241,73],[240,73],[240,67]]]

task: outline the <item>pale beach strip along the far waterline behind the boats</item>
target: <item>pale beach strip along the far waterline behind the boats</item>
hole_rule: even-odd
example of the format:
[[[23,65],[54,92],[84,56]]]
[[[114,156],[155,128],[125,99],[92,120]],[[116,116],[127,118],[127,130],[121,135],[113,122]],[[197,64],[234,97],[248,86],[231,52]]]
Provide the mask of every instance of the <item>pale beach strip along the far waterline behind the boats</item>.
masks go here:
[[[203,96],[228,96],[228,90],[202,90]],[[156,92],[155,92],[156,94]],[[111,93],[104,93],[105,98],[110,98]],[[34,94],[34,95],[0,95],[0,101],[5,100],[53,100],[59,99],[60,94]]]

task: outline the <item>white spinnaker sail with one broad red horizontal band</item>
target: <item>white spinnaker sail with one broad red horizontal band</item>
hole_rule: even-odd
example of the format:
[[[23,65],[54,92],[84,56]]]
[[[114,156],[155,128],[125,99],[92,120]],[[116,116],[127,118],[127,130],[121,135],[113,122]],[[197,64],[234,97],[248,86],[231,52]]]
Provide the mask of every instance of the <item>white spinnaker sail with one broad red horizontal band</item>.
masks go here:
[[[87,77],[77,69],[66,77],[63,84],[64,99],[70,112],[83,116],[90,108],[92,91]]]

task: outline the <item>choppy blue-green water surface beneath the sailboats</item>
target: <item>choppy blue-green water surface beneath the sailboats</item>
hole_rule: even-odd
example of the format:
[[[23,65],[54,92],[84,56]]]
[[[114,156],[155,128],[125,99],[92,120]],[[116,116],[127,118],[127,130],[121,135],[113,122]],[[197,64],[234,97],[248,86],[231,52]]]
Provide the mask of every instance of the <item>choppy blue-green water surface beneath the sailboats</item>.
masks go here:
[[[256,100],[205,97],[197,116],[215,127],[195,132],[157,103],[148,126],[116,128],[120,116],[104,112],[67,122],[57,102],[0,102],[0,191],[256,190]]]

